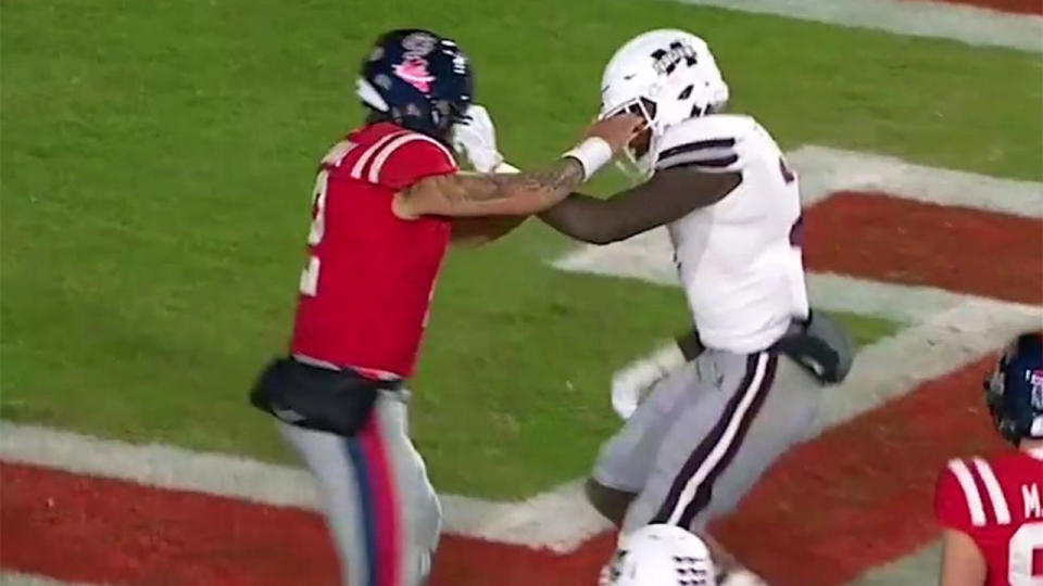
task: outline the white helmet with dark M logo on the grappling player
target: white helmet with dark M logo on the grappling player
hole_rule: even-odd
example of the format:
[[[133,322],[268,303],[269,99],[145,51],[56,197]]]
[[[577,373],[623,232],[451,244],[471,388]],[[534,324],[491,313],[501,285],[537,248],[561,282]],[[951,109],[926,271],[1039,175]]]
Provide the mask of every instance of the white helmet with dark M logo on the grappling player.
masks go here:
[[[627,154],[638,173],[648,177],[667,128],[719,111],[727,101],[728,85],[706,41],[663,28],[630,39],[608,61],[601,79],[599,117],[626,111],[645,118],[652,131],[649,148],[643,153],[627,149]]]

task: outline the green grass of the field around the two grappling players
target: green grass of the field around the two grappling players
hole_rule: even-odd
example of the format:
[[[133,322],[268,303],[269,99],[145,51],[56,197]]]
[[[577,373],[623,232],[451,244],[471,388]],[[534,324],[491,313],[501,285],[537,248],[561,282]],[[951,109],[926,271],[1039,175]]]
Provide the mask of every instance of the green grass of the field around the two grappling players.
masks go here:
[[[0,409],[105,436],[289,461],[246,392],[285,345],[315,164],[356,124],[359,58],[389,27],[457,38],[523,166],[570,145],[617,44],[681,26],[786,148],[1043,177],[1043,72],[1014,51],[646,0],[0,9]],[[617,425],[612,371],[687,322],[679,290],[550,268],[567,246],[530,222],[451,256],[413,384],[440,489],[582,473]],[[863,341],[894,328],[847,319]]]

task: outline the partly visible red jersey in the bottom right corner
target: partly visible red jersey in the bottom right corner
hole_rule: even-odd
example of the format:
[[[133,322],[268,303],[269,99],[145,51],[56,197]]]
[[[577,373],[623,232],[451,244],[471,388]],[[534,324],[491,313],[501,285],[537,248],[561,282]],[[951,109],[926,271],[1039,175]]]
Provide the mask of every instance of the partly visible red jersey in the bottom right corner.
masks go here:
[[[1043,459],[1017,451],[951,460],[938,479],[934,511],[942,526],[978,544],[989,565],[988,586],[1041,586],[1041,496]]]

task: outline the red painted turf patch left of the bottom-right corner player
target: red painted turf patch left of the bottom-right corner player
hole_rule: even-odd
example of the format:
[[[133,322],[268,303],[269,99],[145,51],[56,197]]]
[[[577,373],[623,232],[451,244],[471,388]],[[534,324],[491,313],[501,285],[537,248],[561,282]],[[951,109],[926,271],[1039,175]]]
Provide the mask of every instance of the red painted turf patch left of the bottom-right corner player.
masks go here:
[[[945,462],[1006,446],[981,392],[993,364],[925,383],[793,449],[714,533],[779,586],[843,584],[928,544]]]

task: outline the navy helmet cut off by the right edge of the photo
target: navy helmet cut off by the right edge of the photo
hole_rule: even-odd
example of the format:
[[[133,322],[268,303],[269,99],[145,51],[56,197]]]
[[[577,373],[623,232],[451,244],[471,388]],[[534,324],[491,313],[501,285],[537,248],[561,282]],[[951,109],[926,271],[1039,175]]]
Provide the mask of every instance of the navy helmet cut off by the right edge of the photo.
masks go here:
[[[1008,442],[1043,440],[1043,334],[1018,336],[985,379],[992,420]]]

